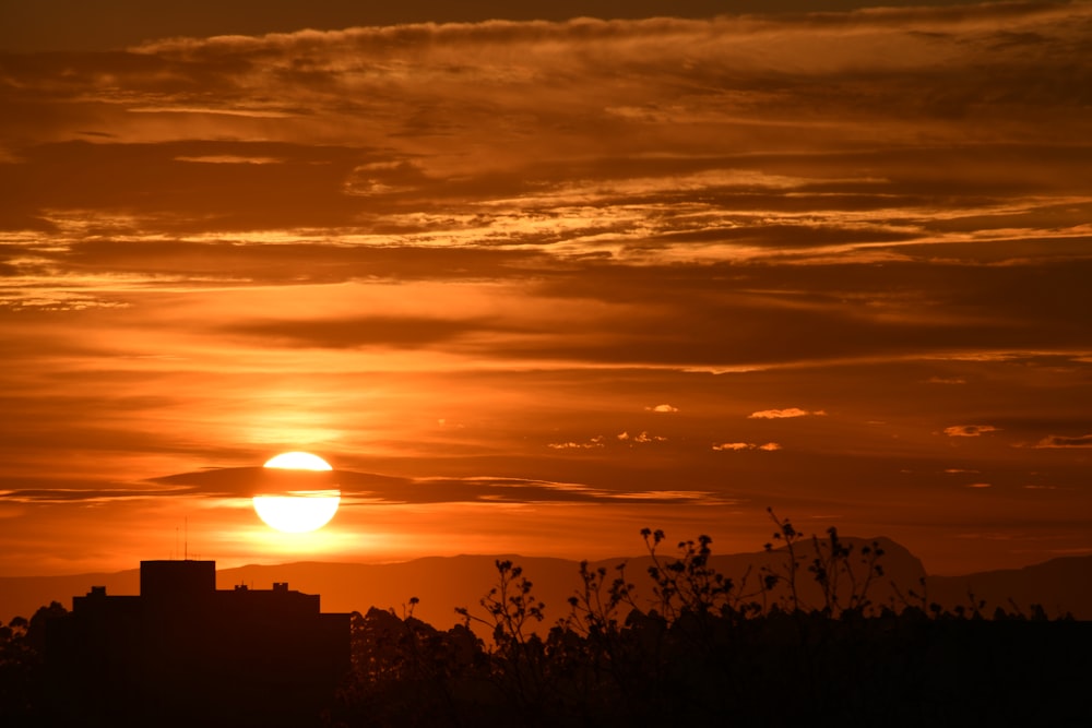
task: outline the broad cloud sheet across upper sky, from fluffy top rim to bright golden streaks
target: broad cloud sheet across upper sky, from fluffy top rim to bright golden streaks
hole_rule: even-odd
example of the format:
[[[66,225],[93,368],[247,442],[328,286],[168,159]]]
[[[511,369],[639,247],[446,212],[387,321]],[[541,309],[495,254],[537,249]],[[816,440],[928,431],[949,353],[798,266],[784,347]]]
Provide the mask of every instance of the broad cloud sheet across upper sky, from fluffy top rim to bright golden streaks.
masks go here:
[[[1042,192],[1073,190],[1071,204],[1087,207],[1083,146],[1065,155],[1025,140],[996,147],[1026,170],[1013,200],[992,193],[981,166],[952,158],[983,156],[961,151],[953,120],[1004,111],[1019,131],[1079,108],[1064,91],[1081,87],[1079,71],[1040,49],[1060,59],[1079,47],[1089,13],[1080,4],[961,12],[422,24],[176,38],[79,64],[9,59],[19,83],[0,126],[27,141],[8,171],[52,181],[24,186],[34,193],[9,203],[17,205],[11,220],[76,203],[124,207],[145,234],[333,224],[385,228],[399,244],[465,239],[655,262],[804,262],[877,247],[913,254],[911,243],[963,244],[997,224],[1006,237],[1066,235],[1045,224],[1053,201]],[[870,73],[856,73],[862,67]],[[1009,71],[1004,87],[984,70],[994,67]],[[1058,83],[1046,87],[1044,76]],[[19,92],[31,87],[33,96]],[[43,98],[66,112],[36,115]],[[204,128],[215,133],[202,140]],[[904,148],[922,129],[934,142]],[[110,141],[67,141],[88,134]],[[862,148],[830,151],[862,134]],[[223,141],[257,136],[268,141]],[[449,151],[470,143],[472,157]],[[940,158],[959,174],[934,178]],[[270,160],[280,164],[254,164]],[[143,184],[147,194],[97,184],[107,167],[114,186]],[[273,189],[278,200],[268,196]],[[941,198],[953,206],[938,211]],[[415,216],[448,223],[415,229],[406,225]],[[460,218],[475,222],[450,225]]]

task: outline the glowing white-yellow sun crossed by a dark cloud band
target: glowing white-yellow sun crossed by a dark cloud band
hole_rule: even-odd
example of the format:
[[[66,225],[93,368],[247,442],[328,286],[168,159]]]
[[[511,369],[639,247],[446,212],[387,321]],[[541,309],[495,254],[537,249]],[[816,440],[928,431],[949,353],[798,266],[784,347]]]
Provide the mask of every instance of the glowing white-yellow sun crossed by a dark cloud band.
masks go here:
[[[318,455],[281,453],[265,462],[269,492],[253,497],[254,513],[286,534],[306,534],[330,523],[341,491],[330,488],[333,468]],[[325,486],[325,487],[323,487]]]

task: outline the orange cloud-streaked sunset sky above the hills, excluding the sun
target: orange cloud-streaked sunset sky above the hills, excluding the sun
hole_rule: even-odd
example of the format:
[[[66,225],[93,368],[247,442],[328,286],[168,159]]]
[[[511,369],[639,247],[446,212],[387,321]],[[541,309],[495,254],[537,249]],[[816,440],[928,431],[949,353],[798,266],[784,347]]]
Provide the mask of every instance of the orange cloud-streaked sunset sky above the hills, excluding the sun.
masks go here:
[[[0,0],[0,575],[1092,553],[1092,3],[890,4]]]

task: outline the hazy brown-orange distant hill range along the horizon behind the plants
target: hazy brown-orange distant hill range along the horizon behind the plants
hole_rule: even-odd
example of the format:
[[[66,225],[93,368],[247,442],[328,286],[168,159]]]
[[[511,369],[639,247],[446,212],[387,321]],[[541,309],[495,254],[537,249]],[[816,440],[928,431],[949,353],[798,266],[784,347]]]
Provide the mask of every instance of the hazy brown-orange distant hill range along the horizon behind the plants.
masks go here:
[[[987,614],[992,614],[997,607],[1012,611],[1012,602],[1024,612],[1030,610],[1032,604],[1041,604],[1051,617],[1068,611],[1078,619],[1092,620],[1092,557],[1054,559],[1025,569],[966,576],[926,577],[922,562],[894,541],[885,538],[845,538],[843,541],[854,547],[852,563],[857,569],[858,582],[866,571],[858,563],[862,547],[876,541],[883,549],[880,563],[885,574],[875,580],[868,593],[875,605],[903,606],[892,583],[911,604],[916,604],[907,593],[913,589],[922,594],[921,580],[925,577],[927,600],[949,609],[957,605],[968,606],[970,590],[976,599],[986,600]],[[798,553],[805,556],[797,574],[802,601],[808,607],[821,606],[821,594],[807,571],[812,556],[811,544],[802,542],[797,548]],[[666,557],[676,556],[674,549],[663,552]],[[375,606],[393,609],[401,616],[408,609],[410,599],[417,597],[419,602],[414,608],[414,614],[437,628],[447,629],[461,619],[455,614],[455,607],[467,607],[472,613],[484,614],[478,600],[496,584],[495,562],[498,559],[508,559],[522,566],[524,575],[533,582],[532,594],[546,604],[543,626],[553,625],[569,612],[568,598],[580,585],[579,562],[543,557],[459,556],[390,564],[296,562],[248,565],[218,571],[216,581],[222,589],[237,584],[268,589],[273,582],[287,582],[290,589],[321,595],[322,610],[327,612],[365,612]],[[652,562],[648,556],[606,559],[589,565],[593,571],[601,566],[606,569],[606,581],[609,583],[618,574],[618,564],[624,562],[627,564],[627,581],[636,586],[637,604],[646,608],[652,598],[652,584],[648,576]],[[761,601],[758,594],[760,570],[765,566],[774,573],[784,574],[786,557],[784,551],[714,554],[711,563],[733,578],[735,584],[744,584],[741,590],[751,595],[748,600]],[[744,582],[748,568],[750,573]],[[7,623],[14,616],[29,618],[38,607],[54,600],[71,608],[72,597],[86,594],[92,586],[105,586],[108,594],[138,594],[140,573],[138,569],[132,569],[110,574],[0,577],[0,620]],[[842,586],[844,588],[844,582]],[[767,595],[769,604],[786,595],[784,581],[781,588]]]

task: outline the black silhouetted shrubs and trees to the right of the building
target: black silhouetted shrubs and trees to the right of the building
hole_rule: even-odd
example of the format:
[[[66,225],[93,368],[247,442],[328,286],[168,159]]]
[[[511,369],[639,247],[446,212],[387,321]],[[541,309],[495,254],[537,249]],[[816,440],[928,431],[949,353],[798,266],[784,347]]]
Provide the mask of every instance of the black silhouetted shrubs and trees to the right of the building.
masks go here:
[[[883,549],[854,550],[835,529],[806,538],[772,511],[783,562],[764,566],[755,590],[710,565],[712,540],[680,541],[664,556],[662,530],[641,532],[652,565],[652,598],[641,604],[627,563],[581,562],[569,612],[545,636],[533,584],[511,561],[496,561],[497,583],[480,611],[458,608],[464,651],[440,673],[420,670],[426,629],[411,617],[372,610],[397,645],[413,705],[377,675],[357,675],[368,701],[344,693],[345,726],[640,726],[721,719],[745,726],[877,723],[890,726],[1026,721],[1070,725],[1092,717],[1078,696],[1089,677],[1082,655],[1092,624],[1033,619],[1019,611],[989,621],[976,609],[879,607],[869,592],[883,578]],[[807,546],[810,544],[810,553]],[[819,601],[805,604],[809,574]],[[779,583],[787,587],[774,598]],[[490,641],[472,636],[473,624]],[[427,628],[446,654],[441,633]],[[399,632],[401,630],[401,632]],[[371,636],[361,654],[381,644]],[[1083,660],[1084,669],[1067,667]],[[417,667],[415,667],[417,666]],[[430,677],[424,678],[425,675]],[[357,700],[354,703],[354,700]],[[1078,724],[1079,725],[1079,724]]]

